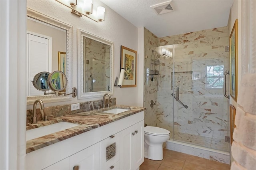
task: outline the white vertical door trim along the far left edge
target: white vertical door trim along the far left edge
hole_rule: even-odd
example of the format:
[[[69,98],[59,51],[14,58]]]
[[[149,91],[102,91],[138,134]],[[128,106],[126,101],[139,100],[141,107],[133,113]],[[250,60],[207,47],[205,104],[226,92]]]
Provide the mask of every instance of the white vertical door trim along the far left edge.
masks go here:
[[[0,169],[24,169],[26,131],[26,0],[0,6]]]

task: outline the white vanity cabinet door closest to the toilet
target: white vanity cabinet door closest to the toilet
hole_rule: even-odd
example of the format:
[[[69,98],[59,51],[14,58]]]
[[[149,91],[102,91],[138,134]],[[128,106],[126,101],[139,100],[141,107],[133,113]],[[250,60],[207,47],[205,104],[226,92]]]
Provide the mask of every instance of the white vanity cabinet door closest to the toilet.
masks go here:
[[[144,162],[144,121],[136,123],[134,126],[134,169],[138,169]],[[136,133],[137,132],[137,133]]]

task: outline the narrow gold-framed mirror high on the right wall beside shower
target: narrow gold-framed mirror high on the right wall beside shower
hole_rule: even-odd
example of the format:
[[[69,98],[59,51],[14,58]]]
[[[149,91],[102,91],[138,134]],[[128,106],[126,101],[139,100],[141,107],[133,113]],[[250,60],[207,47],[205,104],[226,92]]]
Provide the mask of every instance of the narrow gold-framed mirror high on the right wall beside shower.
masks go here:
[[[238,79],[238,20],[236,19],[229,37],[230,46],[230,96],[237,99],[237,79]]]

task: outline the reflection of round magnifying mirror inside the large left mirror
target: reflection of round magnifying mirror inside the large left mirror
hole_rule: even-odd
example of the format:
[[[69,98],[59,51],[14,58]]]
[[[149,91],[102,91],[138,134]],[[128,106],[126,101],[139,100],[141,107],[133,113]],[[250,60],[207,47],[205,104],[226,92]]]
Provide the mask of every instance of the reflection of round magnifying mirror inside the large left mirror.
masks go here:
[[[32,82],[34,87],[36,89],[40,90],[40,91],[49,91],[50,88],[47,84],[47,79],[48,79],[49,74],[50,73],[46,72],[46,71],[43,71],[43,72],[40,72],[40,73],[36,74],[34,76],[34,79],[33,79],[33,82]]]

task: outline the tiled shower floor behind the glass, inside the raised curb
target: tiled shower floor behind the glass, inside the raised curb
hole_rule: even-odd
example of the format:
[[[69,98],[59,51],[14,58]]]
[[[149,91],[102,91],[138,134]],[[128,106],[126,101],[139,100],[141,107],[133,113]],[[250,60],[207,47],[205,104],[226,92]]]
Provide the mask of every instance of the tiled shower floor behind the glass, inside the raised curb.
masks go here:
[[[172,136],[172,134],[170,135]],[[174,140],[181,142],[188,142],[199,146],[212,148],[216,150],[229,151],[229,143],[225,142],[224,139],[200,136],[196,134],[188,134],[182,132],[174,132]]]

